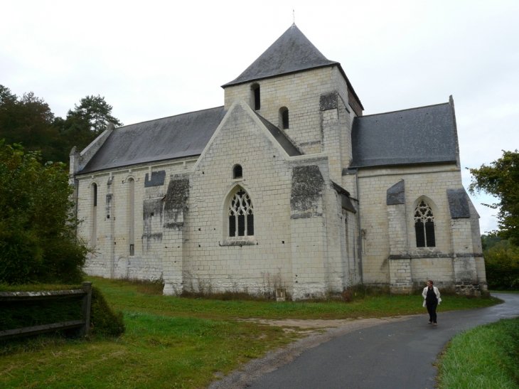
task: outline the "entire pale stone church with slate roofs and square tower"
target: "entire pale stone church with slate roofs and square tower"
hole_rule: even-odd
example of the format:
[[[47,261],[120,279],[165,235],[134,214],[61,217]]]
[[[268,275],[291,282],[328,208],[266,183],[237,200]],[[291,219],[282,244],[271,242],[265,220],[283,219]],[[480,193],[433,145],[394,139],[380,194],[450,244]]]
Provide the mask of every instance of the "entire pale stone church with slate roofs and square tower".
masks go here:
[[[70,153],[85,272],[183,290],[486,289],[454,102],[363,116],[292,25],[222,107],[114,128]]]

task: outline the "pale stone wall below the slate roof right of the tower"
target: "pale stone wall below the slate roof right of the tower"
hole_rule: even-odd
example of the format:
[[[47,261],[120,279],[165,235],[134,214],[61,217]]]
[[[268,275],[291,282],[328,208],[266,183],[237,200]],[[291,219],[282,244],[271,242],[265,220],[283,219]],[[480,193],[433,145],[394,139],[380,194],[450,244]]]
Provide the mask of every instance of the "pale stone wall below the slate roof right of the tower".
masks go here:
[[[402,179],[405,211],[402,208],[397,216],[398,206],[386,205],[386,191]],[[478,270],[484,275],[481,266],[476,269],[476,262],[470,259],[479,250],[473,244],[473,236],[478,234],[473,230],[477,214],[456,219],[449,211],[446,190],[462,188],[461,174],[454,164],[363,169],[359,186],[365,283],[392,284],[395,292],[408,292],[413,283],[423,284],[427,279],[459,287],[466,282],[476,284],[470,280],[477,279]],[[414,208],[421,198],[434,213],[436,247],[416,246]],[[402,225],[402,215],[406,225]],[[398,230],[407,230],[405,240]]]

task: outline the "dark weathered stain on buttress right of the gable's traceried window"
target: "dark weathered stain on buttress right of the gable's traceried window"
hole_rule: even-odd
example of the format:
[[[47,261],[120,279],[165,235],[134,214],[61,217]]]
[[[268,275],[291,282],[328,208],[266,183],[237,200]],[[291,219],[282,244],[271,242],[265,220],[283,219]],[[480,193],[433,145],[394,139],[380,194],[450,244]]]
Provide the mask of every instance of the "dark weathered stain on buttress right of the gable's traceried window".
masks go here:
[[[323,192],[324,180],[319,166],[292,168],[290,209],[298,213],[316,213]]]

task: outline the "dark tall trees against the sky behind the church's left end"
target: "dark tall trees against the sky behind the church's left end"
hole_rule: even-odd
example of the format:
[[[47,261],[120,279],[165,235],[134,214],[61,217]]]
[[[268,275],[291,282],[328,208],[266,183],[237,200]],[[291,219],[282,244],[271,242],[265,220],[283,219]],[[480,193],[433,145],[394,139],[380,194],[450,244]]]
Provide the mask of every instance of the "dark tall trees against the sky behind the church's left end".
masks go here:
[[[5,144],[21,144],[25,151],[41,151],[43,162],[68,164],[73,146],[84,149],[109,122],[122,126],[105,97],[86,96],[63,118],[55,116],[33,92],[19,97],[0,85],[0,139]]]

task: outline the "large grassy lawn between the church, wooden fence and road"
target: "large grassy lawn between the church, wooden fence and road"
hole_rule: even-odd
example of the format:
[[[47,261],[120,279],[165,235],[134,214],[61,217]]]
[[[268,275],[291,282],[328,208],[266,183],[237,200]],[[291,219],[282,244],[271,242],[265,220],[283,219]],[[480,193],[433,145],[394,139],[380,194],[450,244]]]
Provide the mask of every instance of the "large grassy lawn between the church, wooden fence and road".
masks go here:
[[[203,388],[215,373],[294,341],[298,331],[239,321],[344,319],[424,314],[421,296],[365,297],[345,302],[219,301],[164,297],[154,288],[88,277],[115,309],[127,332],[86,341],[37,337],[0,343],[0,388]],[[496,299],[446,296],[440,309],[468,309]]]

